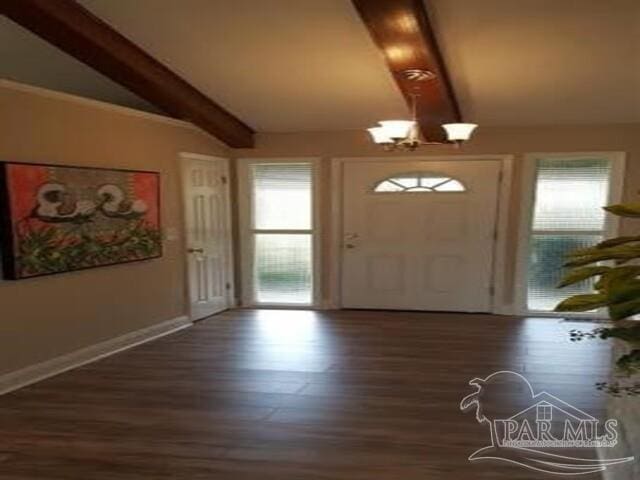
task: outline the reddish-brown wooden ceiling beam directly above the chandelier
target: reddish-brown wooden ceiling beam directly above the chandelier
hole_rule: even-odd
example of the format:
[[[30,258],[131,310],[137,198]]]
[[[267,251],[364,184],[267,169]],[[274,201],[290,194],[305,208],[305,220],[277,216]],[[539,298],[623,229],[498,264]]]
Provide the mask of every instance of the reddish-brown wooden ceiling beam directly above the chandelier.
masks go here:
[[[429,15],[427,0],[352,0],[371,37],[382,51],[407,103],[417,94],[418,124],[428,141],[444,142],[441,125],[462,121],[449,74]],[[435,78],[409,80],[407,70],[426,70]]]

